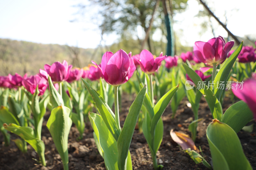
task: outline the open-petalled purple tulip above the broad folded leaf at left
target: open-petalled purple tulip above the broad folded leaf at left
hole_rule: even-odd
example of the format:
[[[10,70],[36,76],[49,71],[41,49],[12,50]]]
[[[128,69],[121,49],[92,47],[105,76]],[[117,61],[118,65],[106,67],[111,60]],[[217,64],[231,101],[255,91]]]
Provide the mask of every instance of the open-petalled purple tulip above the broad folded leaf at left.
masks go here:
[[[64,60],[62,63],[59,61],[54,62],[51,66],[48,64],[44,65],[44,70],[40,69],[39,73],[48,80],[48,74],[50,75],[52,81],[60,82],[66,81],[68,79],[70,69],[72,65],[68,66],[68,62]]]

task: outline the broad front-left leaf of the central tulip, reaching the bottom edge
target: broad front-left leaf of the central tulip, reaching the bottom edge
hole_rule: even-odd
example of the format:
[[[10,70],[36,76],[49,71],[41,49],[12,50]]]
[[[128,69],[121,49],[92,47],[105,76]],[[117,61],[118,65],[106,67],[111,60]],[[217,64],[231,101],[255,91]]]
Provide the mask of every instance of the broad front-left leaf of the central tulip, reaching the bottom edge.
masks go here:
[[[108,130],[102,117],[96,113],[90,113],[89,119],[92,128],[98,138],[102,149],[105,166],[108,170],[118,169],[117,165],[117,142]]]

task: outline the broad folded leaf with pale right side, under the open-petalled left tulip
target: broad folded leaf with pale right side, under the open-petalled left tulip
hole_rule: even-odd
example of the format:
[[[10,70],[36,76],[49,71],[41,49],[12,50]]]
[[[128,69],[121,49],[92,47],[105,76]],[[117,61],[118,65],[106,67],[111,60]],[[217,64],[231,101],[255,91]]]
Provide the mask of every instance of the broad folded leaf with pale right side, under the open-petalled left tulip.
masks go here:
[[[60,154],[63,166],[65,166],[64,169],[68,167],[68,134],[72,125],[69,114],[70,109],[65,106],[58,106],[51,111],[46,124]]]

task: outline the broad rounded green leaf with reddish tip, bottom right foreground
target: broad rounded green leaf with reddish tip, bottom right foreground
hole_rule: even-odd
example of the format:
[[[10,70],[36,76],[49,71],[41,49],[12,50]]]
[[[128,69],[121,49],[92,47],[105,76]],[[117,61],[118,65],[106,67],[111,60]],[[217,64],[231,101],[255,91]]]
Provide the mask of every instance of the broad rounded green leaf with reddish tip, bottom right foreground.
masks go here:
[[[212,155],[213,169],[251,170],[236,132],[225,123],[214,119],[206,130]]]

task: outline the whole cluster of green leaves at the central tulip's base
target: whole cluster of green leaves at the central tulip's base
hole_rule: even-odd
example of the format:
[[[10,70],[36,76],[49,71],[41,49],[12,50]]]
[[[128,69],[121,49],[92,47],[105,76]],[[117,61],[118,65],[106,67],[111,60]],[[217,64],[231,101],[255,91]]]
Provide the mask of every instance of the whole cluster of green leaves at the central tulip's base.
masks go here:
[[[89,119],[98,140],[97,147],[100,148],[107,169],[132,169],[129,147],[146,88],[141,89],[136,96],[121,131],[115,122],[115,115],[105,100],[86,81],[83,82],[100,112],[100,115],[90,113]]]

